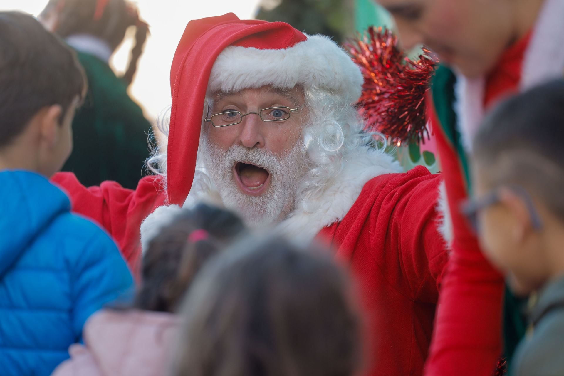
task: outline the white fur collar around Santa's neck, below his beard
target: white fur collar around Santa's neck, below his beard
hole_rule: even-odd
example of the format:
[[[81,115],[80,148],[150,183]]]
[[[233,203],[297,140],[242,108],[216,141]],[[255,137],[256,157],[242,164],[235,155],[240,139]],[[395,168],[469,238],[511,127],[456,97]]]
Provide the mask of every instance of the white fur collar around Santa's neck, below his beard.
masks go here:
[[[394,172],[402,172],[402,168],[392,156],[368,147],[360,147],[343,156],[343,168],[331,185],[302,201],[287,219],[277,225],[277,229],[292,238],[312,240],[321,229],[345,217],[368,180]],[[201,195],[191,192],[184,207],[196,204],[193,197],[201,198]],[[215,193],[209,194],[204,200],[218,204]],[[141,225],[143,249],[146,249],[148,241],[160,228],[170,222],[171,216],[180,210],[178,205],[161,206],[144,220]]]

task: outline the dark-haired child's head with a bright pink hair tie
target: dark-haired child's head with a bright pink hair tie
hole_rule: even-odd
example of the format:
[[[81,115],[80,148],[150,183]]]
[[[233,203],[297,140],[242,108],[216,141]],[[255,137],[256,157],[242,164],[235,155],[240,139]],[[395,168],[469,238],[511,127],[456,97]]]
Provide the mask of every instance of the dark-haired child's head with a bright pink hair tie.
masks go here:
[[[180,211],[149,241],[135,307],[174,312],[200,268],[244,229],[235,214],[217,207]]]

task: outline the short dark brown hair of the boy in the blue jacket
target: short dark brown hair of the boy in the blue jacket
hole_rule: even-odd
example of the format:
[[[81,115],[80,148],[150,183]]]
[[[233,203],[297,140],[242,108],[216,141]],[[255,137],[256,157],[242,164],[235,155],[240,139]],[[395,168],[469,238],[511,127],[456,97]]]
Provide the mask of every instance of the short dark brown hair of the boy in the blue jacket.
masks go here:
[[[82,67],[70,48],[32,16],[0,12],[0,148],[44,107],[60,105],[62,120],[85,89]]]

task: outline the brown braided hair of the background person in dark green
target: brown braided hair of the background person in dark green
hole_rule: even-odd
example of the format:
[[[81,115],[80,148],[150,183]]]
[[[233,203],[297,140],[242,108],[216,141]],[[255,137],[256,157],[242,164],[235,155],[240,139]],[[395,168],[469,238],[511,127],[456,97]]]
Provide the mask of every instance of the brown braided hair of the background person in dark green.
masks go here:
[[[126,0],[50,0],[41,12],[42,19],[54,19],[51,29],[62,38],[87,34],[107,42],[112,51],[124,41],[130,26],[135,26],[135,43],[124,81],[133,81],[149,28],[139,19],[137,8]]]

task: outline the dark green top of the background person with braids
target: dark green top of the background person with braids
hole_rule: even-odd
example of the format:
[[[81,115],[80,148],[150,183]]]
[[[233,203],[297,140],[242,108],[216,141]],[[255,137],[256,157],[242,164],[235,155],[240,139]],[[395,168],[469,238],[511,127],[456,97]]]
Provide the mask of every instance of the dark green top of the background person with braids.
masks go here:
[[[149,156],[151,123],[108,64],[89,54],[77,55],[89,89],[73,120],[74,148],[63,171],[74,172],[86,186],[115,180],[135,188]]]

